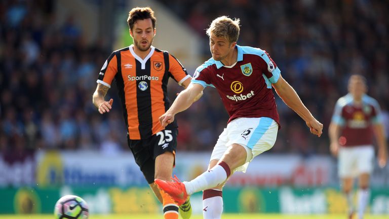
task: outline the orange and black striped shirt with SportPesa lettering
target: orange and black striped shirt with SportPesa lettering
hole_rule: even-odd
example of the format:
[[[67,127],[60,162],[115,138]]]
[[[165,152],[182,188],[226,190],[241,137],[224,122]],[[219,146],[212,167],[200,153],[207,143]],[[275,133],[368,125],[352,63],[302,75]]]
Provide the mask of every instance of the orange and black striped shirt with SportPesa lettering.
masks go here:
[[[190,78],[174,56],[152,46],[144,59],[131,45],[112,52],[105,61],[97,83],[110,88],[115,79],[130,139],[145,139],[163,130],[159,118],[170,106],[169,77],[180,85]]]

